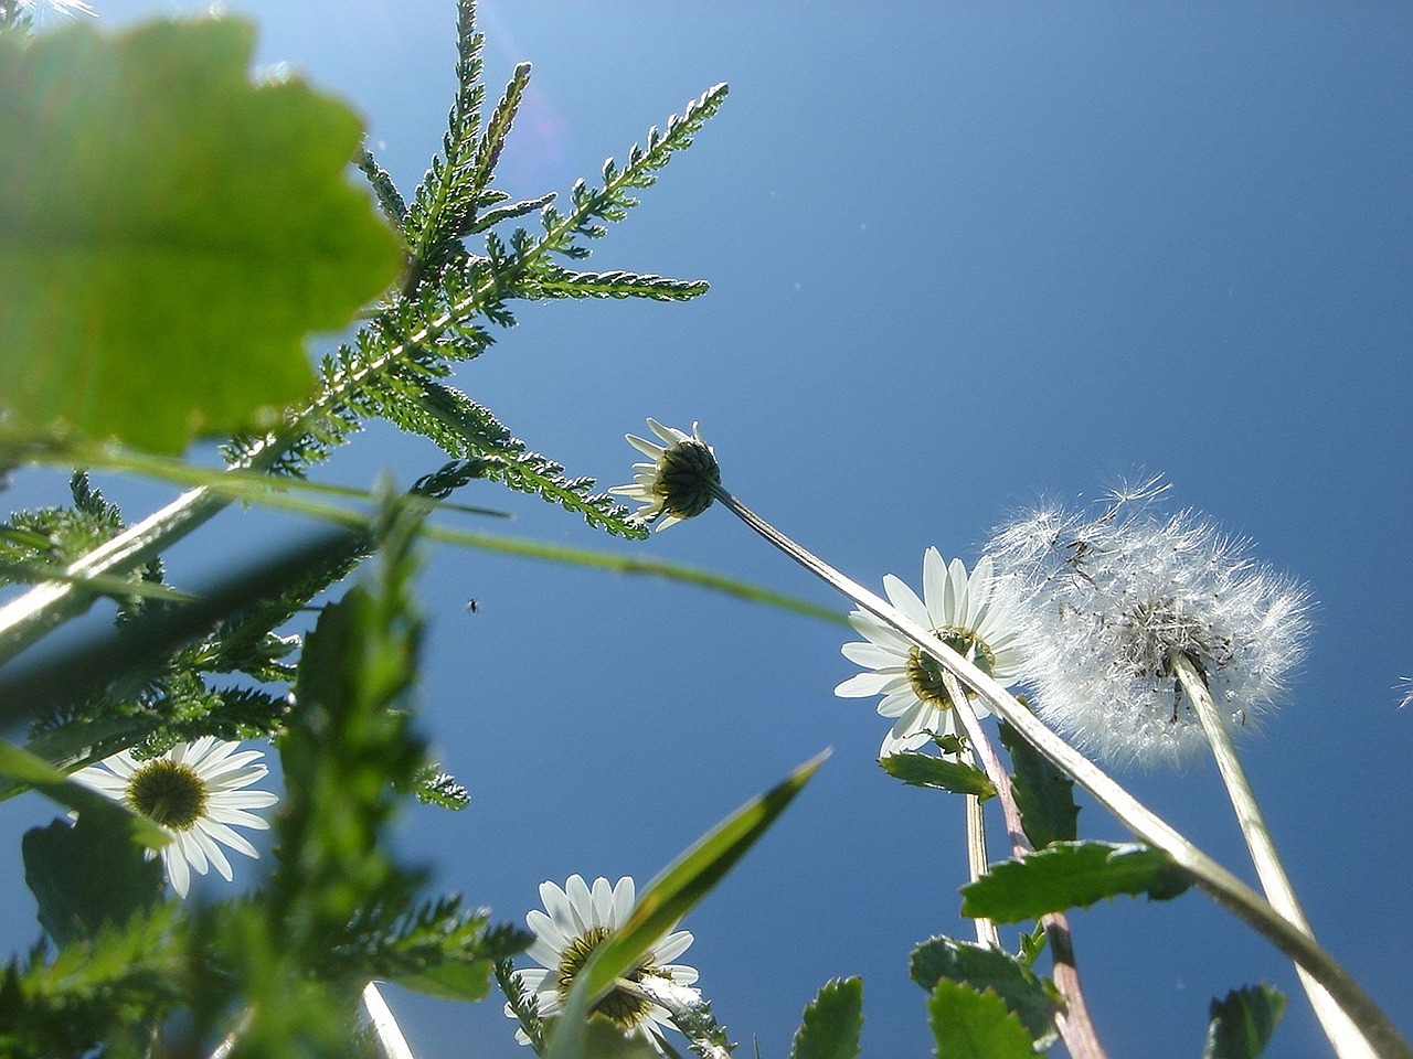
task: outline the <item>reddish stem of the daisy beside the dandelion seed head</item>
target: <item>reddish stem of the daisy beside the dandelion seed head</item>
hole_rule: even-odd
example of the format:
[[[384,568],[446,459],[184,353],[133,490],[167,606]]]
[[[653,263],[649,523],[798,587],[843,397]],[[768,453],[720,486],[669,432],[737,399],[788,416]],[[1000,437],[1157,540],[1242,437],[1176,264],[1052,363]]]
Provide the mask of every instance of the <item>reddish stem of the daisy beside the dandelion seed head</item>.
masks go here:
[[[947,685],[947,695],[954,703],[965,703],[966,695],[961,681],[950,669],[942,669],[942,682]],[[1006,819],[1006,833],[1010,836],[1010,849],[1017,857],[1030,853],[1030,839],[1026,836],[1024,823],[1020,819],[1020,805],[1016,802],[1016,791],[1010,784],[1010,774],[1000,764],[1000,755],[991,741],[986,729],[981,726],[976,712],[968,705],[958,710],[962,727],[966,729],[966,738],[972,750],[981,757],[986,777],[996,788],[996,801],[1000,802],[1002,815]],[[975,801],[968,798],[968,801]],[[976,875],[972,875],[975,881]],[[1099,1043],[1099,1034],[1089,1018],[1089,1005],[1084,998],[1084,984],[1080,981],[1080,964],[1074,955],[1074,935],[1070,933],[1070,918],[1064,912],[1047,912],[1040,916],[1041,926],[1046,928],[1046,939],[1050,942],[1050,962],[1053,964],[1054,984],[1064,997],[1064,1010],[1056,1014],[1056,1029],[1070,1052],[1071,1059],[1106,1059],[1108,1053]],[[978,926],[978,936],[981,928]],[[995,928],[992,928],[995,935]],[[985,943],[985,942],[983,942]],[[999,943],[996,947],[1000,947]]]

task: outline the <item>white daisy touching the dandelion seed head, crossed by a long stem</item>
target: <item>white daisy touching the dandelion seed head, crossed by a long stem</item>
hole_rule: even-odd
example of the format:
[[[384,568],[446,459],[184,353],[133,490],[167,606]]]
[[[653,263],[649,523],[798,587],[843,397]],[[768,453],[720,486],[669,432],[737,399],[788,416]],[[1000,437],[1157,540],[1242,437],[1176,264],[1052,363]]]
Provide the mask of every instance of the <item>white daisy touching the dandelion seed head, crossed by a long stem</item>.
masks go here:
[[[1020,655],[1010,611],[993,592],[996,582],[989,556],[978,559],[968,576],[961,559],[948,565],[935,548],[928,548],[923,554],[923,599],[892,573],[883,578],[883,590],[894,607],[1005,686],[1016,679]],[[961,734],[942,666],[934,658],[866,611],[855,610],[849,624],[868,642],[845,644],[844,657],[872,672],[851,676],[834,693],[851,699],[883,696],[879,713],[892,717],[893,727],[883,737],[879,757],[917,750],[933,736]],[[978,716],[991,713],[979,700],[968,700]]]

